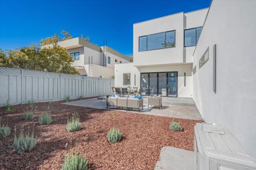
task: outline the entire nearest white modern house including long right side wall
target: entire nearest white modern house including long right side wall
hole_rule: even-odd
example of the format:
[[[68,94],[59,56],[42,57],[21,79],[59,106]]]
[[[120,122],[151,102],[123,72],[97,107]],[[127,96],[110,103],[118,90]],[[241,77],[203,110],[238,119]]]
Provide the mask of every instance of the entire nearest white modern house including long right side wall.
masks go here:
[[[256,157],[255,8],[256,1],[213,0],[133,24],[133,63],[115,65],[115,87],[193,98],[206,123],[225,126]]]

